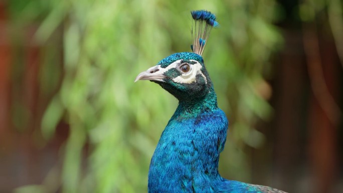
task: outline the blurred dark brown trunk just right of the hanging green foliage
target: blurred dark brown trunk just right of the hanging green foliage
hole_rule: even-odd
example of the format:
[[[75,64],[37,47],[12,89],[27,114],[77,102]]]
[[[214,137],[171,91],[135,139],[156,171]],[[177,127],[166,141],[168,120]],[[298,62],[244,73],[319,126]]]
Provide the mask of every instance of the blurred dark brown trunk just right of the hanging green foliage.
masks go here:
[[[276,187],[288,192],[299,189],[299,179],[306,152],[303,133],[306,130],[306,95],[308,92],[306,66],[303,63],[301,34],[291,26],[283,27],[285,48],[275,62],[275,131],[274,175]],[[289,186],[289,184],[293,184]]]

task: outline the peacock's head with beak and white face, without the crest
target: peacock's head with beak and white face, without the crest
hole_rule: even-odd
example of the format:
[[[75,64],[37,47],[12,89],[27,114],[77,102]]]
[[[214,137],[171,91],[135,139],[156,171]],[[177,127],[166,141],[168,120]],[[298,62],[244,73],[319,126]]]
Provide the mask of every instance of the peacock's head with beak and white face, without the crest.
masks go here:
[[[170,55],[141,72],[135,81],[150,80],[180,101],[203,98],[213,89],[203,57],[190,52]]]

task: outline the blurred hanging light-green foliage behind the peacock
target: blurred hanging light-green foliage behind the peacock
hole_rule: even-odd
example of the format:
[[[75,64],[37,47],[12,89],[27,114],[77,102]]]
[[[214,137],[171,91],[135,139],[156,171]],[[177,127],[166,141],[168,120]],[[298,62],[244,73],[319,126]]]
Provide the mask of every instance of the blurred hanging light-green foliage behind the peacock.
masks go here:
[[[177,100],[156,84],[133,80],[162,58],[190,51],[190,11],[197,9],[215,13],[220,23],[212,31],[204,59],[219,106],[230,120],[221,173],[249,181],[244,147],[263,144],[264,136],[254,126],[272,113],[264,77],[269,75],[269,57],[281,43],[272,25],[279,17],[275,1],[11,4],[15,19],[22,14],[26,22],[40,21],[35,37],[41,44],[63,27],[65,74],[42,122],[47,139],[61,118],[70,125],[61,147],[63,192],[146,192],[151,155]],[[83,152],[86,144],[88,157]],[[27,192],[35,188],[42,187],[29,186]]]

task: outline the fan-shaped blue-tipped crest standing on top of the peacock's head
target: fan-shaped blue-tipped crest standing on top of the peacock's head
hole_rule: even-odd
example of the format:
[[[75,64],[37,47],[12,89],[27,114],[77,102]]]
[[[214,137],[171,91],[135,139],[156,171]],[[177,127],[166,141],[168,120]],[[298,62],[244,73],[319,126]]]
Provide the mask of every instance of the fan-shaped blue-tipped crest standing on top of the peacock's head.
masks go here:
[[[219,26],[216,16],[206,10],[192,11],[192,39],[191,49],[194,53],[202,55],[212,28]],[[193,24],[194,23],[194,24]]]

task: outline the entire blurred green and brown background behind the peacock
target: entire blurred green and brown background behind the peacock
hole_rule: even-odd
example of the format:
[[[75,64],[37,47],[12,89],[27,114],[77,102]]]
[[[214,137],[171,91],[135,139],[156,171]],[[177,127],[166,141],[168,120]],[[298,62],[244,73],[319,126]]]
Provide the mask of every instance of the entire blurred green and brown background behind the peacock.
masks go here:
[[[343,192],[340,0],[0,1],[0,192],[147,192],[178,101],[135,76],[190,51],[191,10],[217,15],[203,54],[226,112],[220,173]]]

